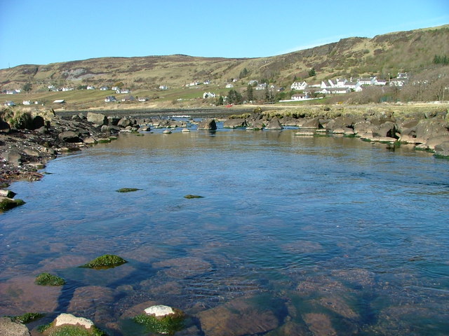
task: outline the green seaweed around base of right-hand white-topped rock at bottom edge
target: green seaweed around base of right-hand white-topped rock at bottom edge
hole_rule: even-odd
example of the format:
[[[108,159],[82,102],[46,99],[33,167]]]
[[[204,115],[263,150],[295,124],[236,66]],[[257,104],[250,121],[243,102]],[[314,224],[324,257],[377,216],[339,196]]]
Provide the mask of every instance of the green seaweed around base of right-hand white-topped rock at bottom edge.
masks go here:
[[[133,318],[138,324],[145,325],[148,332],[158,332],[159,334],[173,335],[184,328],[185,314],[175,309],[175,314],[156,317],[147,314],[140,314]]]

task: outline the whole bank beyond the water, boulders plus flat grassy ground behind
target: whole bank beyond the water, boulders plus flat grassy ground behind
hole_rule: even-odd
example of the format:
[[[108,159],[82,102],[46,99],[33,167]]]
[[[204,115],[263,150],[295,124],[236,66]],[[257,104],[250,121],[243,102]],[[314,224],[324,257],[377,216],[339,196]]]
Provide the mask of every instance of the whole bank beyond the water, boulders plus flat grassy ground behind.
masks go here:
[[[413,144],[449,154],[448,104],[363,106],[233,106],[208,109],[62,111],[4,109],[0,113],[0,183],[41,179],[39,169],[58,155],[111,141],[139,127],[180,127],[175,116],[223,120],[253,130],[297,127],[298,135],[344,134],[366,141]],[[161,123],[163,120],[163,123]],[[171,120],[171,121],[170,121]],[[148,129],[148,128],[147,128]]]

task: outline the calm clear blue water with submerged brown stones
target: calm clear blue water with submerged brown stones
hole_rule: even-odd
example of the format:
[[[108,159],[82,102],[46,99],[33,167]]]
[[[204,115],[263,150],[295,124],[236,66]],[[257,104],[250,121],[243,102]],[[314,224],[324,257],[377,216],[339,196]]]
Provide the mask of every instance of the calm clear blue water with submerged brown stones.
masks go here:
[[[180,335],[447,335],[448,160],[294,134],[121,134],[13,183],[0,315],[148,335],[128,318],[168,304],[193,316]],[[77,267],[105,253],[129,262]]]

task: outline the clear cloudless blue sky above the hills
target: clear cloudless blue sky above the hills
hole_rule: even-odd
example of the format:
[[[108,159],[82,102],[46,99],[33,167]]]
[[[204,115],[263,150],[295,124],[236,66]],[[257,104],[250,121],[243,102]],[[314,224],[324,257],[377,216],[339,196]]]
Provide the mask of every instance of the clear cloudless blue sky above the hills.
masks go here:
[[[0,69],[112,56],[265,57],[445,24],[449,0],[0,0]]]

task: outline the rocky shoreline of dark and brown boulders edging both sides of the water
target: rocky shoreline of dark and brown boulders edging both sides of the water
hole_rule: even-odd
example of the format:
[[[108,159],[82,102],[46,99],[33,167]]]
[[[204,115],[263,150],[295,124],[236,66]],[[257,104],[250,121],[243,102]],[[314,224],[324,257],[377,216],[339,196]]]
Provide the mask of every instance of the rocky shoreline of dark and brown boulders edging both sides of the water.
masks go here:
[[[339,113],[328,108],[322,113],[262,111],[256,108],[241,115],[220,119],[224,127],[246,130],[281,130],[297,127],[297,136],[319,134],[360,137],[365,141],[388,144],[412,144],[415,148],[449,158],[449,113],[447,109],[431,113],[413,113],[396,117],[388,111]],[[199,129],[215,130],[213,111],[200,111]],[[142,116],[107,116],[87,112],[59,116],[55,111],[0,111],[0,184],[7,188],[18,180],[35,181],[43,177],[39,169],[58,155],[79,151],[98,142],[109,142],[119,132],[148,131],[150,127],[173,129],[186,127],[173,118],[154,113]],[[5,196],[0,196],[5,197]]]

